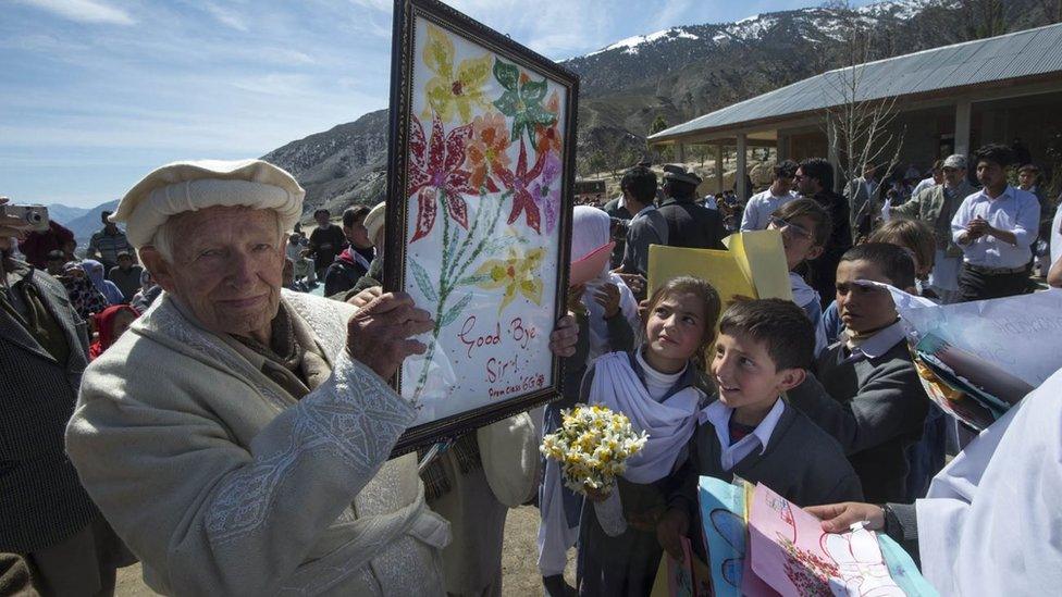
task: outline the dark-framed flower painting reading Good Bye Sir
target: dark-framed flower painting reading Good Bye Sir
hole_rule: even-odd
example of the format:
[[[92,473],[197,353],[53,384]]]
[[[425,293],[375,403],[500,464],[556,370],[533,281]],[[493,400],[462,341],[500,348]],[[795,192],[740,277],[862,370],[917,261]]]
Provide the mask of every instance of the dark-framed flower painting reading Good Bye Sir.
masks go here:
[[[434,0],[396,2],[392,77],[384,286],[435,322],[400,452],[559,395],[579,79]]]

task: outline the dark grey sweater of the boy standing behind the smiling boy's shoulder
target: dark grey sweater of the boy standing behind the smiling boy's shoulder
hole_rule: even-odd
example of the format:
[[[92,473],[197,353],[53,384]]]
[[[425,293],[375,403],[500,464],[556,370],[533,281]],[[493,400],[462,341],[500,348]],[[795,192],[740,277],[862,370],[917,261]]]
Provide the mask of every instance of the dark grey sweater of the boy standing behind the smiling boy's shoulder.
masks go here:
[[[929,413],[906,343],[877,358],[844,358],[842,343],[823,352],[815,375],[789,391],[790,403],[840,443],[866,501],[904,501],[905,452]]]

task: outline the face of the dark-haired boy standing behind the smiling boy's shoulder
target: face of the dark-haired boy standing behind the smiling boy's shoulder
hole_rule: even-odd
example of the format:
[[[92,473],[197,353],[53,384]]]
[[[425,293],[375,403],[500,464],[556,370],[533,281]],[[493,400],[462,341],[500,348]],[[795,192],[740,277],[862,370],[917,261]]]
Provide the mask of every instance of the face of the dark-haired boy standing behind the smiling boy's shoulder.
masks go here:
[[[857,279],[892,284],[869,261],[842,261],[837,266],[837,309],[844,325],[861,333],[880,329],[894,322],[896,304],[888,290],[855,284]]]

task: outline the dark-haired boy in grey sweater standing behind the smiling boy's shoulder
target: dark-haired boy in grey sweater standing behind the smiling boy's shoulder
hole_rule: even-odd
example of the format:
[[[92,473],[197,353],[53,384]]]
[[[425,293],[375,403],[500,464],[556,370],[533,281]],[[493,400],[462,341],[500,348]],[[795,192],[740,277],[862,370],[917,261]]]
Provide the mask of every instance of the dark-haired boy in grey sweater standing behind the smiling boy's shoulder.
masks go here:
[[[881,282],[914,291],[911,252],[867,242],[849,249],[837,266],[842,341],[830,346],[789,391],[790,403],[833,436],[863,485],[866,501],[906,496],[906,450],[922,436],[929,399],[907,350],[903,327]]]

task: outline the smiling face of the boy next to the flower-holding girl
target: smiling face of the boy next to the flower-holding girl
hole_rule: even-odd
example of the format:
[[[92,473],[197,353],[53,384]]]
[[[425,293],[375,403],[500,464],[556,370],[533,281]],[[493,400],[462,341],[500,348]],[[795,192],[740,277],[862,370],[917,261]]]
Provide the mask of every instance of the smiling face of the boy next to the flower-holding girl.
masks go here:
[[[794,386],[795,371],[778,371],[766,344],[746,335],[719,334],[716,338],[712,377],[719,387],[719,399],[752,415],[753,422],[762,420],[778,396]]]

